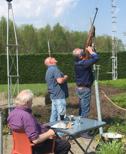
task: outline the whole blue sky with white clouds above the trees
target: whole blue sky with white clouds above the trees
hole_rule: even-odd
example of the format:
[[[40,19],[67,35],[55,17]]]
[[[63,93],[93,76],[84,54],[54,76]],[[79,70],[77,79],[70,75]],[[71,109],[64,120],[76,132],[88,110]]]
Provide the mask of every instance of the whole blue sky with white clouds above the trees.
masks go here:
[[[126,1],[115,0],[117,5],[117,37],[126,44]],[[13,11],[17,25],[33,24],[43,27],[59,22],[70,30],[87,31],[90,18],[96,18],[96,35],[112,34],[111,0],[13,0]],[[0,0],[0,17],[7,17],[7,2]]]

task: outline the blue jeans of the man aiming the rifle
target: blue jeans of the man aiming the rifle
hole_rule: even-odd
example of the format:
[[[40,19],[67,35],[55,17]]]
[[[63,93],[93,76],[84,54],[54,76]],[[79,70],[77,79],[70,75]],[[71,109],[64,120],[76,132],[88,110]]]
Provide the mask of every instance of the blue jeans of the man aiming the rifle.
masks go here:
[[[86,118],[90,111],[91,88],[77,88],[76,93],[79,97],[79,115]]]

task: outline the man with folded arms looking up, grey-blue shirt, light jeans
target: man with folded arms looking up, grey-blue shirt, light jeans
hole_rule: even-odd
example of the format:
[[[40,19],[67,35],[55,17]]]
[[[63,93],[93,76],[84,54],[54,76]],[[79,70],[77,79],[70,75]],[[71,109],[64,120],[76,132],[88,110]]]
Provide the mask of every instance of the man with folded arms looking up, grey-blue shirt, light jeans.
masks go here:
[[[57,60],[54,57],[47,57],[44,63],[48,67],[45,80],[52,101],[50,122],[54,122],[60,120],[60,114],[66,112],[65,99],[68,97],[68,76],[59,70]]]

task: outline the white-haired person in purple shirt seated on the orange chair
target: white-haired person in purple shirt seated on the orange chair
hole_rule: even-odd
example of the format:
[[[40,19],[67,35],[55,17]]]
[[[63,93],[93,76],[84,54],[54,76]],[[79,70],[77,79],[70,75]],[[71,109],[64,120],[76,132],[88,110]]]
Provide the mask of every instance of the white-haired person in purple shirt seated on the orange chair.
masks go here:
[[[32,115],[32,99],[33,93],[31,90],[21,91],[15,99],[16,107],[10,112],[7,120],[12,130],[24,131],[30,141],[35,144],[32,149],[33,153],[41,154],[49,152],[55,132],[45,125],[40,125]],[[68,154],[69,150],[70,144],[67,141],[56,139],[55,154]]]

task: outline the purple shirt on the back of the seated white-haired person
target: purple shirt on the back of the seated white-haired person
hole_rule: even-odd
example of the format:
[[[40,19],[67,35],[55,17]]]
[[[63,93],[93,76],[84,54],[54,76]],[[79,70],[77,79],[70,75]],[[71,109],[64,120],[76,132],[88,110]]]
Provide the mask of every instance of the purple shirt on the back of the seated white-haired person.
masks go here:
[[[31,140],[41,133],[41,127],[32,116],[30,109],[16,107],[10,112],[7,120],[12,130],[24,131]]]

